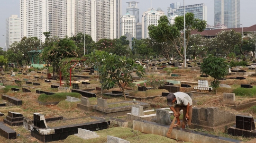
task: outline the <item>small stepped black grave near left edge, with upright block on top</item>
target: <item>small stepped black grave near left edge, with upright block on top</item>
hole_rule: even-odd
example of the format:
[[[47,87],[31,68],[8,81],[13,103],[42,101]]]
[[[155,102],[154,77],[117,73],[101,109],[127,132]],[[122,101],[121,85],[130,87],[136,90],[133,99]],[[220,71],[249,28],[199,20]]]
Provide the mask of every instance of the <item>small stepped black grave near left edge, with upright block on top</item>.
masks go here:
[[[3,122],[9,126],[22,126],[23,118],[25,117],[20,113],[8,111],[8,116],[6,116],[6,119],[3,119]]]

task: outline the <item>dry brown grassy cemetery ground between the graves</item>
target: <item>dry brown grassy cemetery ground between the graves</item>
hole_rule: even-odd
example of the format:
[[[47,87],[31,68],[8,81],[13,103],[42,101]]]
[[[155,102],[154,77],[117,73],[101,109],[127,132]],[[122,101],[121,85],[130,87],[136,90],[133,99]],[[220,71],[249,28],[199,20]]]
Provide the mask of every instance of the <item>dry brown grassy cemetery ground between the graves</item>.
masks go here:
[[[162,65],[157,65],[157,66],[161,67]],[[255,70],[248,69],[247,67],[239,67],[239,69],[246,70],[247,73],[248,72],[255,73]],[[134,132],[131,131],[133,128],[133,121],[127,119],[126,114],[108,117],[102,114],[101,112],[96,111],[96,109],[91,109],[89,111],[82,110],[78,108],[78,105],[77,105],[78,103],[81,103],[81,101],[76,101],[76,102],[65,101],[66,96],[72,96],[72,97],[81,99],[82,94],[71,93],[72,87],[68,90],[61,89],[61,88],[51,88],[51,85],[59,86],[60,81],[50,79],[51,82],[47,83],[45,81],[45,79],[47,78],[47,75],[42,73],[42,72],[47,72],[46,70],[35,69],[36,71],[32,71],[32,72],[25,72],[25,70],[26,69],[23,69],[21,74],[16,73],[15,76],[10,76],[11,73],[7,74],[8,72],[5,72],[5,74],[1,76],[4,79],[3,85],[6,88],[0,89],[0,94],[9,95],[11,97],[15,97],[22,101],[22,105],[18,105],[18,106],[7,105],[5,107],[0,107],[0,112],[4,114],[4,116],[0,116],[1,123],[3,122],[4,119],[6,119],[9,111],[18,112],[22,114],[23,117],[30,118],[31,120],[33,120],[34,113],[40,113],[44,115],[45,118],[63,117],[63,119],[61,120],[46,122],[48,127],[67,126],[67,125],[73,125],[73,124],[94,122],[94,121],[98,121],[99,120],[98,118],[102,118],[109,121],[111,117],[111,118],[114,118],[113,120],[121,119],[124,121],[128,121],[128,126],[120,127],[116,125],[114,122],[110,122],[107,129],[99,129],[95,131],[97,135],[100,135],[100,137],[98,138],[83,140],[82,138],[79,138],[75,135],[69,135],[64,140],[53,141],[52,143],[72,143],[72,142],[106,143],[107,135],[112,135],[115,137],[125,139],[127,141],[130,141],[130,143],[154,143],[154,142],[155,143],[166,143],[166,142],[186,143],[181,140],[173,140],[165,136],[145,134],[139,131],[137,132],[137,135],[136,135]],[[167,74],[167,71],[169,70],[172,70],[172,73]],[[41,72],[41,73],[37,73],[37,72]],[[26,75],[24,75],[23,73],[26,73]],[[87,72],[75,71],[74,75],[90,77],[88,79],[73,77],[73,81],[81,81],[80,83],[78,83],[80,89],[88,90],[90,91],[90,93],[96,93],[96,97],[89,98],[90,105],[92,106],[97,105],[97,102],[98,102],[97,98],[105,99],[108,102],[108,108],[121,108],[123,106],[140,104],[139,102],[134,103],[133,98],[127,98],[127,100],[124,101],[123,96],[111,96],[110,94],[108,94],[108,93],[111,93],[112,91],[120,91],[119,88],[113,88],[108,91],[103,90],[103,95],[101,95],[101,90],[99,89],[96,90],[97,88],[101,87],[97,74],[89,75],[89,73]],[[167,82],[179,81],[179,82],[174,82],[174,86],[179,86],[180,92],[192,93],[193,91],[195,91],[194,87],[198,85],[199,80],[207,80],[208,83],[213,81],[213,78],[211,77],[200,77],[200,75],[201,75],[200,70],[198,68],[179,69],[178,67],[166,67],[164,69],[158,69],[157,71],[153,71],[152,69],[150,69],[146,72],[146,75],[143,78],[140,78],[140,79],[136,78],[134,79],[134,82],[138,84],[138,86],[144,86],[145,80],[153,76],[154,78],[157,78],[157,79],[165,78]],[[35,78],[35,76],[40,78]],[[243,80],[234,79],[237,76],[245,77],[246,79],[243,79]],[[245,116],[251,115],[252,117],[256,118],[255,105],[250,108],[236,110],[234,108],[231,108],[230,106],[227,106],[223,101],[223,93],[235,93],[237,102],[244,102],[244,101],[256,99],[256,77],[250,76],[250,75],[245,76],[245,75],[238,75],[238,74],[230,74],[225,78],[226,80],[220,81],[220,83],[224,84],[223,86],[225,87],[219,87],[217,89],[217,94],[215,94],[215,91],[211,91],[209,93],[193,92],[194,101],[196,103],[194,106],[200,107],[200,108],[218,107],[219,110],[224,110],[229,113],[233,113],[236,115],[245,115]],[[21,79],[23,81],[21,86],[18,86],[15,83],[15,80],[18,80],[18,79]],[[40,85],[26,83],[26,81],[37,83]],[[82,81],[90,84],[83,85],[81,84]],[[189,84],[191,85],[191,87],[181,87],[182,84]],[[250,84],[253,86],[253,88],[248,88],[248,89],[241,88],[240,87],[241,84]],[[229,85],[230,87],[226,85]],[[20,91],[11,91],[11,88],[20,89]],[[30,92],[27,92],[27,93],[22,92],[22,88],[26,88],[27,90],[30,90]],[[166,97],[162,96],[162,93],[169,93],[167,89],[158,89],[158,90],[149,89],[150,88],[149,85],[146,85],[146,88],[148,88],[148,90],[146,91],[138,91],[137,86],[127,87],[127,90],[126,90],[126,92],[129,93],[129,96],[141,98],[141,102],[145,102],[150,105],[146,110],[152,110],[152,111],[144,112],[144,115],[155,114],[156,109],[168,108],[168,106],[166,105],[166,102],[167,102]],[[55,93],[55,94],[54,95],[46,95],[47,93],[38,94],[36,93],[37,91],[43,91],[43,92]],[[151,97],[156,95],[158,97],[154,97],[153,99],[146,99],[146,97]],[[127,102],[127,101],[130,101],[130,102]],[[136,101],[140,101],[140,100],[136,100]],[[8,101],[0,99],[0,103],[3,103],[3,102],[8,102]],[[46,103],[49,103],[49,105],[47,105]],[[169,109],[165,109],[165,110],[170,111]],[[222,115],[222,116],[224,117],[225,115]],[[171,118],[173,119],[173,116],[171,116]],[[23,126],[9,126],[7,124],[5,124],[5,126],[8,126],[17,132],[17,139],[7,140],[5,137],[0,136],[0,141],[2,141],[3,143],[17,143],[17,142],[18,143],[37,143],[38,142],[38,139],[35,137],[32,137],[31,133],[27,131]],[[191,130],[199,131],[199,132],[203,132],[211,135],[218,135],[218,136],[223,136],[227,138],[232,138],[232,139],[243,141],[244,143],[254,138],[254,137],[244,137],[244,136],[237,136],[237,135],[232,136],[228,134],[227,130],[225,132],[210,131],[202,128],[194,128]],[[139,137],[140,139],[139,141],[137,137]]]

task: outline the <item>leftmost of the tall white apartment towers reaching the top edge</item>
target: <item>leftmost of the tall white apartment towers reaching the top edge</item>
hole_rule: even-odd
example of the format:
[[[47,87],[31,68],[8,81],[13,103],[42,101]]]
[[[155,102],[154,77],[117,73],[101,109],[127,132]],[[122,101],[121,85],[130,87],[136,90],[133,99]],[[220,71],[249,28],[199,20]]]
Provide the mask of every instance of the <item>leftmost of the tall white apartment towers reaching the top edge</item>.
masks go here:
[[[49,2],[52,0],[20,0],[21,38],[37,37],[45,41],[49,31]]]

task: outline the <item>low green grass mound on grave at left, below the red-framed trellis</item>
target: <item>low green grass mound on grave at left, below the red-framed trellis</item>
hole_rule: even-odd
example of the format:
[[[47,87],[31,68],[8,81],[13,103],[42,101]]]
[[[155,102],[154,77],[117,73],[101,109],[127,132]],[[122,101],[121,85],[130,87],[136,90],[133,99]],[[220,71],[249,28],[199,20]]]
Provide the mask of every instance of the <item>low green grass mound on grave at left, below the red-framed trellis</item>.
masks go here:
[[[66,96],[81,98],[81,94],[79,93],[55,93],[54,95],[41,94],[39,95],[37,100],[41,102],[58,102],[64,101],[66,99]]]

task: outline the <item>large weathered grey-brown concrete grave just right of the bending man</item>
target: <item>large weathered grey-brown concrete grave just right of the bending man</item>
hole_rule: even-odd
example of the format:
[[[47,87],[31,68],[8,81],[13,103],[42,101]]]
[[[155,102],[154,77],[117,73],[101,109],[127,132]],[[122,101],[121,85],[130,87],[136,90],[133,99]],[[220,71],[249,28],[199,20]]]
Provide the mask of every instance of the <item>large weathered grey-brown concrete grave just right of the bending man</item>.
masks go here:
[[[194,107],[192,109],[192,124],[190,127],[224,132],[225,128],[233,126],[235,122],[235,114],[219,110],[217,107]]]

